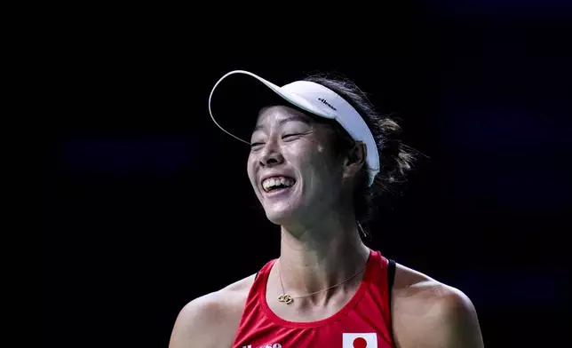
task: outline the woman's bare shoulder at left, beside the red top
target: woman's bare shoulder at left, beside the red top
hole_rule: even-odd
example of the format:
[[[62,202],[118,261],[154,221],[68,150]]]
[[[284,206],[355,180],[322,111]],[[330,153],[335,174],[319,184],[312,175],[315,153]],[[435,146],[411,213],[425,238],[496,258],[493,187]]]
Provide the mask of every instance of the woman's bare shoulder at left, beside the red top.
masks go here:
[[[254,278],[252,274],[185,305],[175,321],[169,347],[232,346]]]

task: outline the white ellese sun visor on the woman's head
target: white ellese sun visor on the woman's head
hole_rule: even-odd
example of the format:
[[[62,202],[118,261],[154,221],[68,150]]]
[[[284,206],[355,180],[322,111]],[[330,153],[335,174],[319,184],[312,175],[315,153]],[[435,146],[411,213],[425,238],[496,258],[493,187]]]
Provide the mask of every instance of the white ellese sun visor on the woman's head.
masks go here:
[[[225,84],[222,82],[230,80],[228,77],[231,75],[247,75],[254,77],[254,79],[242,79],[241,85],[234,84],[234,88],[221,92],[220,90],[223,89],[221,86]],[[268,93],[261,91],[259,88],[257,91],[258,86],[254,86],[251,83],[252,81],[255,81],[258,86],[266,86],[263,87],[263,90],[265,91],[273,91],[275,94],[270,94],[273,94],[274,98],[275,95],[278,95],[293,106],[305,110],[308,113],[328,118],[330,120],[336,120],[347,131],[347,133],[352,138],[354,138],[354,141],[361,141],[365,143],[367,148],[366,162],[368,163],[369,167],[368,186],[371,186],[374,178],[379,172],[379,154],[377,153],[376,141],[374,140],[368,125],[363,121],[363,118],[361,118],[361,115],[354,109],[354,107],[352,107],[345,99],[338,96],[336,92],[322,86],[322,84],[312,83],[308,81],[296,81],[279,87],[274,83],[270,83],[265,79],[248,71],[231,71],[230,73],[222,76],[218,82],[215,83],[214,87],[212,88],[211,95],[209,96],[209,112],[211,113],[212,121],[217,124],[221,130],[224,130],[230,136],[237,138],[246,144],[250,144],[250,142],[246,140],[247,138],[250,138],[250,133],[245,132],[244,119],[242,118],[244,115],[243,112],[248,113],[250,111],[256,113],[254,115],[258,115],[261,107],[270,105],[265,105],[265,100],[263,98],[265,96],[266,98],[271,97],[268,96]],[[250,86],[252,86],[252,89],[249,88]],[[216,94],[214,93],[215,90],[218,91]],[[256,104],[253,104],[251,99],[263,100],[259,100],[258,106],[255,106]],[[226,106],[222,107],[221,109],[224,110],[226,108],[225,113],[227,115],[218,115],[218,117],[215,118],[213,113],[213,106],[218,109],[219,104]],[[242,110],[242,105],[250,105],[255,108],[251,110]],[[228,115],[228,110],[235,109],[238,109],[238,111],[234,115]],[[253,118],[255,117],[254,115]],[[236,126],[241,126],[242,132],[244,133],[243,137],[235,135],[237,132],[240,133],[240,131],[235,130],[236,127],[232,126],[233,123]],[[252,128],[250,128],[250,131]]]

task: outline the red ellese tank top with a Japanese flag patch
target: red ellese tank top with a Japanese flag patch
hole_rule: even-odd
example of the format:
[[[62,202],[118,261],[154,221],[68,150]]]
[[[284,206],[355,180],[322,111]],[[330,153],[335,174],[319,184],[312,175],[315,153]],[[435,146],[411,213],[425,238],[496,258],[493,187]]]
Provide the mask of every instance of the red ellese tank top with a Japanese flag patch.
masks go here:
[[[268,262],[250,288],[233,348],[393,347],[387,259],[370,251],[361,285],[339,312],[313,322],[279,318],[266,303]]]

